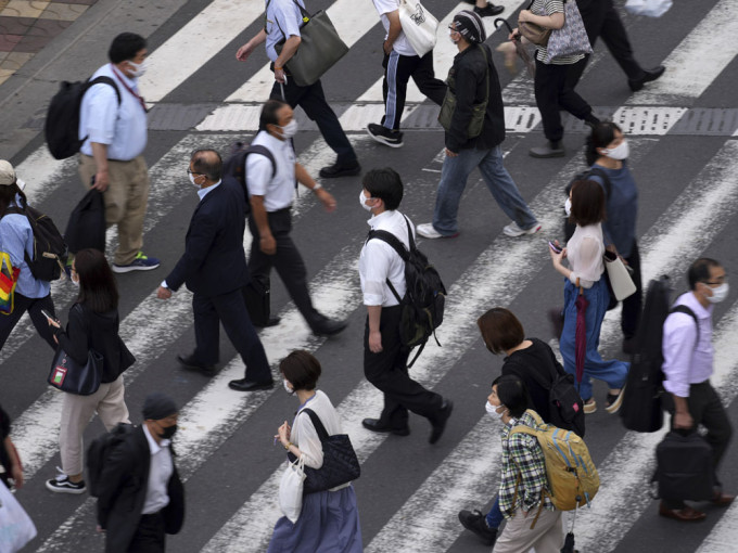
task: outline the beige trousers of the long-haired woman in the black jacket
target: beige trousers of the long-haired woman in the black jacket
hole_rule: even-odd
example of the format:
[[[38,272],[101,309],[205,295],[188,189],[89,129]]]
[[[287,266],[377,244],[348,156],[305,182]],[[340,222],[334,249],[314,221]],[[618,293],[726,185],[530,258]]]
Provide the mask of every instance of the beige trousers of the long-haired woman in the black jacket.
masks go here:
[[[81,474],[85,455],[82,435],[97,411],[107,432],[118,423],[130,423],[128,408],[124,401],[123,375],[115,381],[101,384],[91,396],[64,394],[62,402],[62,425],[59,433],[59,449],[62,455],[62,471],[67,476]]]

